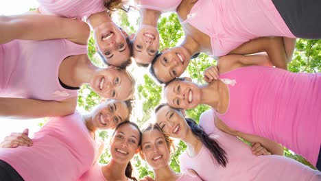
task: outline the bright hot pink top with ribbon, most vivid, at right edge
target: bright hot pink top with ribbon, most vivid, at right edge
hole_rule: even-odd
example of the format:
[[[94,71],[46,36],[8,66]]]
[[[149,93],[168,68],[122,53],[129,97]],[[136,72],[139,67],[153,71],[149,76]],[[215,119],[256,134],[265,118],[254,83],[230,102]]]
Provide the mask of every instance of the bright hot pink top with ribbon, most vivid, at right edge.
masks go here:
[[[256,134],[316,165],[321,145],[321,73],[292,73],[272,67],[243,67],[219,75],[230,102],[217,116],[230,128]]]

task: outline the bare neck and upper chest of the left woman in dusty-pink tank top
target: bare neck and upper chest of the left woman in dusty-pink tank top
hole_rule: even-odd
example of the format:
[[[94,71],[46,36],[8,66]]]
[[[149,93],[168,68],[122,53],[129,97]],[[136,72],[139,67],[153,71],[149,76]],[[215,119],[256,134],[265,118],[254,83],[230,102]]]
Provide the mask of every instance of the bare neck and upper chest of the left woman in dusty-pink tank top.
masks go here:
[[[58,76],[67,86],[79,87],[89,83],[91,76],[98,69],[86,54],[70,56],[60,64]]]

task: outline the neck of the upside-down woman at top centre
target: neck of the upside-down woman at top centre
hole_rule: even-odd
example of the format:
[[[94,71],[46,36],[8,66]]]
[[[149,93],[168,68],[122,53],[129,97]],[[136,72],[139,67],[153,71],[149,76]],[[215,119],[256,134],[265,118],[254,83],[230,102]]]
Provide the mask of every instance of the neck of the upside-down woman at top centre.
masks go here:
[[[141,25],[151,25],[157,27],[157,21],[161,12],[142,8],[139,10],[139,14],[141,14]]]

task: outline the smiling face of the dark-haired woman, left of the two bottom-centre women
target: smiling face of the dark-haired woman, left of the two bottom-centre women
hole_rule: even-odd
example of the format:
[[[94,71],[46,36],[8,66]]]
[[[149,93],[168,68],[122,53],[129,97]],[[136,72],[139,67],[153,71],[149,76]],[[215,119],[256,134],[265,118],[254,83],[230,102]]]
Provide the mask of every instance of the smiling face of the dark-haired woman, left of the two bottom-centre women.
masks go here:
[[[134,125],[124,124],[115,130],[110,142],[112,159],[127,164],[139,150],[139,130]]]

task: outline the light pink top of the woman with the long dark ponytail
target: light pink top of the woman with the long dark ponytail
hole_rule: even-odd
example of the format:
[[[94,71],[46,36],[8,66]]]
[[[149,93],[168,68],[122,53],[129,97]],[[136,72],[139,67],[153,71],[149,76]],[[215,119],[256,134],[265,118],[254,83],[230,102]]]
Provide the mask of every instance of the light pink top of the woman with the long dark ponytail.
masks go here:
[[[254,156],[246,143],[215,127],[213,111],[207,110],[200,117],[204,131],[215,138],[226,151],[228,164],[219,166],[206,147],[191,158],[186,152],[180,156],[182,171],[193,169],[202,180],[320,180],[321,172],[285,156]]]

